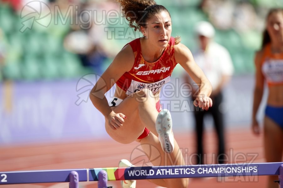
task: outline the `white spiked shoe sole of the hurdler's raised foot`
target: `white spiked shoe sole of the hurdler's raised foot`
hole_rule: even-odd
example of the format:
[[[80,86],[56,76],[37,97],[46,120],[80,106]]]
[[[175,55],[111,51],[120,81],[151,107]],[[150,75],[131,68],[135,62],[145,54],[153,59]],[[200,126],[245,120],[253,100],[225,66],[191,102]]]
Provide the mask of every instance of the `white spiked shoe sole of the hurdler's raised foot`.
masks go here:
[[[172,153],[174,149],[174,137],[172,133],[172,118],[169,110],[164,109],[158,113],[156,119],[156,131],[164,152]],[[173,138],[173,140],[170,140]],[[161,140],[163,139],[163,141]]]

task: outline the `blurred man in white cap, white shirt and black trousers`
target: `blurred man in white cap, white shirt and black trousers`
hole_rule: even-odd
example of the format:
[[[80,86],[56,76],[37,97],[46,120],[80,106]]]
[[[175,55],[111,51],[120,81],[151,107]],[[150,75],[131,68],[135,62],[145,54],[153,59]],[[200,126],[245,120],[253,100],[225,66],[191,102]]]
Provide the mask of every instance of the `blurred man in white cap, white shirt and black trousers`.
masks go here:
[[[222,104],[222,90],[225,85],[230,81],[234,68],[229,52],[221,45],[213,41],[214,28],[209,22],[202,21],[197,24],[196,34],[199,39],[199,50],[194,53],[194,59],[197,65],[203,70],[208,80],[212,84],[211,99],[213,106],[208,111],[196,107],[194,109],[195,126],[197,133],[197,164],[204,164],[204,151],[203,151],[203,120],[204,116],[211,114],[214,120],[214,127],[217,132],[218,139],[218,156],[217,162],[223,163],[225,160],[225,139],[224,139],[224,119]],[[186,81],[193,85],[190,77],[186,75]],[[197,93],[197,88],[194,87],[192,94]],[[192,96],[195,100],[196,96]],[[226,159],[227,161],[227,159]]]

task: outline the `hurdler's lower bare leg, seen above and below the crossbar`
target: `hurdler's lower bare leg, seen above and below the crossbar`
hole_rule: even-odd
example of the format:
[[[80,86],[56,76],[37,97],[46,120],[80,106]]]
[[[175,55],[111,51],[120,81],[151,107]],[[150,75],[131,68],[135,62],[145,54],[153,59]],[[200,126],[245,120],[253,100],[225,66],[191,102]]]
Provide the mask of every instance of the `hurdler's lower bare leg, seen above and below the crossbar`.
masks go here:
[[[152,162],[154,166],[185,165],[183,155],[175,139],[174,139],[174,144],[175,147],[173,152],[168,154],[168,153],[164,153],[164,151],[160,146],[158,137],[155,136],[153,133],[149,133],[147,137],[141,139],[142,149],[145,153],[147,153],[147,156],[149,156],[149,160]],[[152,149],[152,147],[156,149]],[[160,156],[160,158],[158,158],[158,156]],[[189,180],[188,178],[182,178],[182,179],[154,179],[149,181],[162,187],[187,188]]]

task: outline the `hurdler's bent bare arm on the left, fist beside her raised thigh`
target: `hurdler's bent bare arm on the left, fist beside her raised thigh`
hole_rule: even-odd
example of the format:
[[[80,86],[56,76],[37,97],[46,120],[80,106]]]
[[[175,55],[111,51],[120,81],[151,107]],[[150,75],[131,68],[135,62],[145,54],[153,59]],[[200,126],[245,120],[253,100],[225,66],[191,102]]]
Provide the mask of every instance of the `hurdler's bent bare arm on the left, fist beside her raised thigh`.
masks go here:
[[[111,89],[116,81],[133,67],[135,61],[131,46],[126,45],[114,58],[107,70],[98,79],[90,92],[92,104],[104,115],[111,128],[119,128],[124,123],[124,114],[116,114],[109,106],[105,93]]]

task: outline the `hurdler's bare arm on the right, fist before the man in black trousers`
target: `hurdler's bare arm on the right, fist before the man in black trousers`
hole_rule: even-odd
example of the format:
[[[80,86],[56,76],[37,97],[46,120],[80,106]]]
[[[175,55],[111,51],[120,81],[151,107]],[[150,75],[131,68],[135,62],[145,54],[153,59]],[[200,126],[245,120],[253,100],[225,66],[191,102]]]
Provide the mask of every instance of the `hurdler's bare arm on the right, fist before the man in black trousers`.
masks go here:
[[[175,45],[175,60],[199,86],[194,105],[199,106],[203,110],[208,110],[212,106],[212,100],[209,98],[212,92],[211,83],[204,75],[203,70],[195,63],[191,51],[184,44],[179,43]]]

